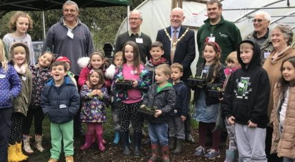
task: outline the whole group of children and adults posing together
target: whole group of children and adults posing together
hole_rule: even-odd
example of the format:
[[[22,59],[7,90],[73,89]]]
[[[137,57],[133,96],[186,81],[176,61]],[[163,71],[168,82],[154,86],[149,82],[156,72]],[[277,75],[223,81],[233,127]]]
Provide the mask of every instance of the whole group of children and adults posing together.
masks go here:
[[[158,31],[154,43],[140,30],[142,13],[130,12],[130,30],[118,36],[113,62],[94,51],[91,32],[78,18],[74,1],[64,3],[62,14],[47,32],[38,60],[27,34],[32,19],[25,12],[12,16],[12,33],[0,41],[0,161],[23,161],[28,159],[25,154],[34,153],[29,140],[33,119],[35,147],[43,152],[44,116],[51,122],[49,162],[58,161],[62,149],[66,161],[73,161],[73,135],[85,139],[80,150],[97,141],[99,150],[105,151],[103,124],[109,106],[113,143],[121,140],[125,155],[131,154],[130,122],[133,154],[141,155],[146,119],[152,150],[148,161],[157,161],[160,148],[162,160],[169,161],[170,151],[179,154],[184,141],[194,142],[192,118],[198,121],[196,157],[220,157],[224,134],[220,125],[225,124],[226,162],[237,157],[239,161],[295,161],[295,49],[289,25],[270,30],[270,14],[257,12],[254,31],[242,40],[235,24],[223,18],[222,3],[208,1],[209,18],[198,30],[200,56],[192,75],[195,34],[182,25],[181,8],[172,10],[170,26]],[[193,78],[199,84],[189,84]],[[127,86],[119,84],[128,81]],[[223,96],[210,95],[213,89],[224,89]],[[154,114],[142,113],[144,108],[154,108]],[[87,126],[85,134],[82,122]],[[208,132],[212,134],[209,149]]]

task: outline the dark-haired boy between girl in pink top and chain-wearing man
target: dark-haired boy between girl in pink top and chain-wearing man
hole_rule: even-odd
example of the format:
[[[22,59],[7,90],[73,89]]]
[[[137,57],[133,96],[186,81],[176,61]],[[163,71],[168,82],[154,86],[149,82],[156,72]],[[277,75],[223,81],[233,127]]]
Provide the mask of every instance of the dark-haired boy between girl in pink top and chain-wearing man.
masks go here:
[[[169,62],[166,58],[162,58],[164,54],[163,44],[161,42],[152,43],[152,47],[150,48],[150,55],[152,58],[145,63],[145,68],[150,71],[150,80],[152,80],[152,84],[154,84],[154,76],[155,69],[158,65],[168,64]]]

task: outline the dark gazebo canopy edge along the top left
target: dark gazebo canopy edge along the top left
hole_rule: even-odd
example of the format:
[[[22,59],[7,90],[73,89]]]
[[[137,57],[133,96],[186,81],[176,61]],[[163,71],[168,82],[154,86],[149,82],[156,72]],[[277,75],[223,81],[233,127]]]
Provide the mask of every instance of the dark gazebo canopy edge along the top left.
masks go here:
[[[0,10],[44,11],[61,9],[66,0],[2,0]],[[79,8],[109,7],[115,5],[130,5],[130,0],[73,0]]]

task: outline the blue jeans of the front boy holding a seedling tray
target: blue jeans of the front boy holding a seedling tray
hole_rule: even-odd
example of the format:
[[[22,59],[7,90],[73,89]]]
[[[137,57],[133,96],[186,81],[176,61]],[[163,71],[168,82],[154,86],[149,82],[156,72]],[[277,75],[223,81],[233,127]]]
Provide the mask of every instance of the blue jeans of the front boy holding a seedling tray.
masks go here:
[[[152,144],[168,145],[168,124],[148,122],[148,135]]]

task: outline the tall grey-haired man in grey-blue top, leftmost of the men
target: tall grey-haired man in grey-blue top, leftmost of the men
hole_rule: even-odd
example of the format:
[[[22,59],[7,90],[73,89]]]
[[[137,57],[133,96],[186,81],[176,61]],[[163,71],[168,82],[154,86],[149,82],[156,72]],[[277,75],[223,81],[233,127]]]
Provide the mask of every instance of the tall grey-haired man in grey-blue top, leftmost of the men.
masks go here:
[[[62,5],[63,16],[60,22],[52,25],[45,38],[42,51],[50,50],[58,56],[66,56],[71,61],[71,69],[78,82],[81,68],[77,60],[93,52],[93,41],[88,27],[78,18],[79,8],[74,1]],[[83,137],[84,131],[80,122],[80,111],[74,118],[75,136]]]

